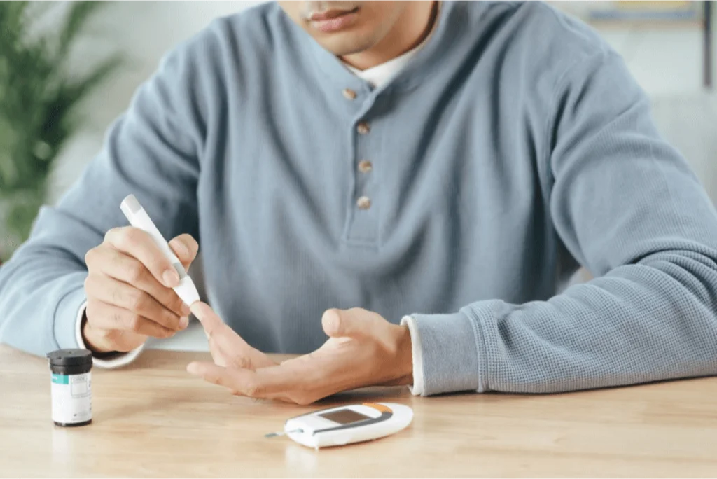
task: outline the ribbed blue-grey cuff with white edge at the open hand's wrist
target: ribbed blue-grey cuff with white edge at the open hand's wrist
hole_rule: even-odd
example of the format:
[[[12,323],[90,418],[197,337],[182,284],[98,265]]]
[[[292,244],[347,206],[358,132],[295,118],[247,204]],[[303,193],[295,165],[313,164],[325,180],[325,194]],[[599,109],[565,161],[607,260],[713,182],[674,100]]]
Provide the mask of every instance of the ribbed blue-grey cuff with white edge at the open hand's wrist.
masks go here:
[[[413,342],[413,394],[485,390],[485,348],[478,321],[460,312],[414,314],[402,323],[408,325]]]

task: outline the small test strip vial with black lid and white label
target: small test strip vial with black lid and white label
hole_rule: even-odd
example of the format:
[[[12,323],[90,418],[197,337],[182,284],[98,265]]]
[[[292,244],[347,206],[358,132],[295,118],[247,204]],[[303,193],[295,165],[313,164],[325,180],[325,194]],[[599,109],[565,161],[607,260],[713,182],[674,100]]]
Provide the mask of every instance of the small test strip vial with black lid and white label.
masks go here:
[[[61,427],[92,422],[92,352],[60,349],[47,354],[51,377],[52,421]]]

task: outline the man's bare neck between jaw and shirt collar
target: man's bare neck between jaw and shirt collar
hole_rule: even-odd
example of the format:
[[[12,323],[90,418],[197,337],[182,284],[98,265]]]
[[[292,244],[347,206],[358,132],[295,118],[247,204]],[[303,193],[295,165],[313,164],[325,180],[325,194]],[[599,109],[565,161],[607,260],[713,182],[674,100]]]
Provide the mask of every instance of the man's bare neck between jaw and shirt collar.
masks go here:
[[[370,49],[341,57],[357,70],[366,70],[393,60],[417,47],[437,22],[440,0],[412,0],[394,29]]]

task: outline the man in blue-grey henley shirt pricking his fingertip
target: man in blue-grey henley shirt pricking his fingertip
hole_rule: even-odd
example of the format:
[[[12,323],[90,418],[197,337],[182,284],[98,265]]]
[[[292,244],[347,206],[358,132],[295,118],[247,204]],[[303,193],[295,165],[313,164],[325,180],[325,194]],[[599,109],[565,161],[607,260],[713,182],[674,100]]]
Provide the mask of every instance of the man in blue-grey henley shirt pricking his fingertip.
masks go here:
[[[192,310],[214,364],[189,371],[234,394],[717,371],[716,212],[622,60],[541,1],[278,0],[217,19],[2,267],[2,341],[111,366],[186,327],[171,265],[123,226],[130,193],[186,266],[201,245],[218,314]],[[577,265],[595,279],[561,292]]]

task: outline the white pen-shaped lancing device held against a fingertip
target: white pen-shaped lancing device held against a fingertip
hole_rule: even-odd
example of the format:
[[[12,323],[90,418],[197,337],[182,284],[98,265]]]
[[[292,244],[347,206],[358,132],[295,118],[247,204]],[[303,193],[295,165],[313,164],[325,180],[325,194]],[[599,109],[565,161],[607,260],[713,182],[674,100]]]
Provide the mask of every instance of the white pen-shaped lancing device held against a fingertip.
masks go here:
[[[127,196],[123,199],[122,204],[120,204],[120,209],[133,227],[141,229],[152,237],[162,254],[171,262],[177,274],[179,274],[179,286],[172,288],[179,298],[188,306],[199,301],[199,291],[196,290],[194,282],[189,278],[189,275],[186,274],[186,270],[184,270],[184,266],[181,265],[181,261],[176,257],[171,247],[169,247],[168,242],[159,232],[136,197],[133,194]]]

